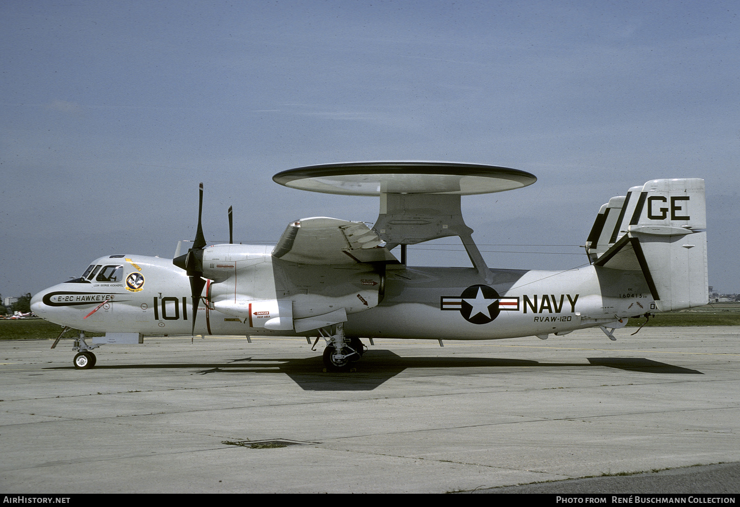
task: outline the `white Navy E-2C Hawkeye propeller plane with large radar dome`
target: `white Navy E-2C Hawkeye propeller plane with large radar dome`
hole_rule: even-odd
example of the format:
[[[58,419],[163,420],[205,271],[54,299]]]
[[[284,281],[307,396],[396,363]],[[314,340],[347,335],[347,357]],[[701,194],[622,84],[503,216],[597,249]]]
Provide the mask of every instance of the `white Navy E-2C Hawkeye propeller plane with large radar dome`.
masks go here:
[[[33,297],[36,315],[81,329],[75,368],[105,343],[144,335],[323,338],[327,371],[366,352],[365,338],[494,340],[599,327],[708,302],[704,180],[656,179],[610,198],[585,241],[588,264],[563,271],[490,269],[462,219],[462,195],[533,184],[529,172],[451,162],[299,167],[273,180],[294,189],[377,195],[373,227],[328,217],[289,224],[275,246],[208,245],[198,228],[174,259],[115,254]],[[232,236],[229,210],[229,237]],[[406,265],[406,246],[458,236],[472,266]],[[391,249],[400,246],[400,259]],[[182,255],[180,255],[182,253]],[[85,338],[84,331],[104,332]],[[62,332],[64,334],[64,331]],[[61,338],[60,335],[59,338]],[[58,343],[55,341],[54,346]],[[315,345],[315,342],[314,342]]]

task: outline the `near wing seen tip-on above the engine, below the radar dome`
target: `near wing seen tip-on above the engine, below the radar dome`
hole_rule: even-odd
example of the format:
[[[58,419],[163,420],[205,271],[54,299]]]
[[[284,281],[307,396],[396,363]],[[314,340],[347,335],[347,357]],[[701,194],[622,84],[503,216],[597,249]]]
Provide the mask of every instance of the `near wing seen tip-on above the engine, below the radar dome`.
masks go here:
[[[385,244],[362,222],[312,217],[289,224],[272,256],[303,264],[397,263]]]

